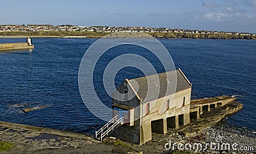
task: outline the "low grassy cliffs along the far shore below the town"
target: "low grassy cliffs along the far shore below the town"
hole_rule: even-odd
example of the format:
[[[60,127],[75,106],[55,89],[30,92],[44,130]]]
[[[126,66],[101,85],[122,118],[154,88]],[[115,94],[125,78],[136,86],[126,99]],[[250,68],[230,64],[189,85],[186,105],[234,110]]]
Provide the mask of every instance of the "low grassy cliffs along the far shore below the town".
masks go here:
[[[163,39],[250,39],[256,36],[243,34],[212,34],[212,33],[185,33],[185,32],[145,32],[154,38]],[[0,32],[0,38],[102,38],[111,32]]]

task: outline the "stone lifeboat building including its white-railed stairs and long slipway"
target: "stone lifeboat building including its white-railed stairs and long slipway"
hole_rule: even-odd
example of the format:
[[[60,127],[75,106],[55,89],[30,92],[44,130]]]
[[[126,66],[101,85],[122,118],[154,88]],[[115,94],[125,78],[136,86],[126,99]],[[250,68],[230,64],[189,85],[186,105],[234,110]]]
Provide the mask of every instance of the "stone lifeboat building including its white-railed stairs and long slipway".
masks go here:
[[[166,134],[169,128],[178,129],[180,125],[188,125],[190,118],[200,118],[205,111],[211,108],[225,106],[236,100],[236,97],[221,96],[208,99],[191,100],[192,84],[186,78],[181,69],[176,70],[177,87],[175,92],[166,92],[170,81],[168,74],[161,73],[158,76],[159,95],[156,100],[148,99],[148,76],[125,80],[118,88],[120,94],[126,94],[128,90],[134,90],[134,81],[138,83],[138,92],[134,90],[134,97],[124,101],[113,99],[113,119],[95,132],[95,138],[103,140],[111,134],[122,141],[144,144],[152,139],[152,133]],[[150,87],[154,88],[154,87]],[[168,90],[167,90],[168,91]],[[113,94],[115,95],[115,93]],[[121,101],[120,101],[121,100]],[[139,106],[139,108],[137,108]]]

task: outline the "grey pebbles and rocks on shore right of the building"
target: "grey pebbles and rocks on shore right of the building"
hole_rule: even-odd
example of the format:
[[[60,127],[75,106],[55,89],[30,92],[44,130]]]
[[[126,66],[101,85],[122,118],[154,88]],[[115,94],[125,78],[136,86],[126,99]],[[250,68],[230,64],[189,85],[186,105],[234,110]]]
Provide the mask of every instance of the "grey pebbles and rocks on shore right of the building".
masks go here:
[[[125,144],[136,151],[143,151],[143,153],[256,153],[255,143],[255,133],[244,132],[221,124],[202,129],[201,134],[195,137],[185,137],[179,132],[170,130],[168,134],[154,134],[152,141],[141,146]],[[182,146],[178,146],[178,144]],[[196,144],[202,145],[202,148],[200,146],[197,148]],[[189,145],[191,145],[191,149]],[[206,145],[207,148],[205,148]],[[229,148],[228,145],[230,145]],[[234,145],[234,149],[232,145]]]

